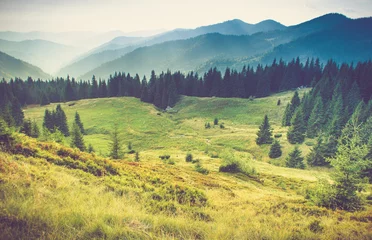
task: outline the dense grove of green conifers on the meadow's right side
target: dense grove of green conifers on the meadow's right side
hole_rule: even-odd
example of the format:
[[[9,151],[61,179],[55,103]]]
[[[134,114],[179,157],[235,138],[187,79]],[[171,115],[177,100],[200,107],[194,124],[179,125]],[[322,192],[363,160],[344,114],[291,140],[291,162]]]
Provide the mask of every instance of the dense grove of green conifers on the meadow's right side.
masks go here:
[[[371,70],[371,62],[358,64],[356,68],[346,64],[338,68],[329,61],[310,92],[302,99],[295,92],[282,125],[289,126],[287,138],[292,144],[303,143],[306,137],[317,138],[307,156],[309,165],[328,165],[327,159],[335,156],[340,137],[354,131],[350,128],[360,129],[360,144],[372,146]],[[372,180],[372,166],[366,166],[365,170]]]

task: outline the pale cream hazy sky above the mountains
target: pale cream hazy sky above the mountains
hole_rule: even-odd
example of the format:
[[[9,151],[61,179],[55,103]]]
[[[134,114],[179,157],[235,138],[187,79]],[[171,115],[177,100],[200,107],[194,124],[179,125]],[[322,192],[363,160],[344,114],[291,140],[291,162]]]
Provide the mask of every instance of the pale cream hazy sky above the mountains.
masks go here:
[[[329,12],[372,16],[372,0],[0,0],[0,31],[170,30],[236,18],[294,25]]]

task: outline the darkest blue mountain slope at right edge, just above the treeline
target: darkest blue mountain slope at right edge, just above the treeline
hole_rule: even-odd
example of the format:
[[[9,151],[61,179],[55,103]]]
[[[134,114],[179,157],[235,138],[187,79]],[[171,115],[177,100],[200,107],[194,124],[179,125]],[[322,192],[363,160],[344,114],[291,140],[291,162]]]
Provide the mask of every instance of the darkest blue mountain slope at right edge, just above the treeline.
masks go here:
[[[333,29],[320,31],[276,47],[264,62],[274,58],[288,61],[296,56],[305,60],[318,57],[322,62],[332,58],[336,62],[370,60],[372,56],[372,18],[344,22]]]

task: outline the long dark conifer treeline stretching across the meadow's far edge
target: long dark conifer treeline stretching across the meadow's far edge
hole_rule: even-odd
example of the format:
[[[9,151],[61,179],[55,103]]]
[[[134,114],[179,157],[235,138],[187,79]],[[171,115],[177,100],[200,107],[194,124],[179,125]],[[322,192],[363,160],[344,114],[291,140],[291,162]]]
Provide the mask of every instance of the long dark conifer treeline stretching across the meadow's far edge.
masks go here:
[[[107,81],[97,80],[94,76],[90,81],[76,81],[70,77],[48,81],[33,80],[31,77],[26,81],[16,78],[9,82],[0,82],[0,114],[9,125],[20,126],[23,119],[21,107],[30,104],[46,105],[79,99],[131,96],[165,109],[167,106],[172,107],[179,95],[265,97],[300,86],[315,86],[322,78],[331,79],[329,81],[342,79],[348,83],[352,80],[361,98],[367,102],[372,89],[370,76],[371,61],[358,63],[355,67],[346,64],[339,67],[335,62],[329,61],[323,68],[318,59],[311,59],[303,64],[297,58],[289,63],[274,60],[269,66],[258,65],[255,69],[247,66],[240,72],[227,68],[224,74],[211,68],[203,76],[194,72],[185,75],[170,71],[156,75],[152,71],[148,81],[145,76],[141,81],[138,74],[131,76],[125,73],[115,73]],[[342,91],[348,90],[352,82],[351,85],[343,85]],[[330,86],[326,85],[325,88],[329,89]],[[322,97],[325,94],[327,93],[322,92]]]

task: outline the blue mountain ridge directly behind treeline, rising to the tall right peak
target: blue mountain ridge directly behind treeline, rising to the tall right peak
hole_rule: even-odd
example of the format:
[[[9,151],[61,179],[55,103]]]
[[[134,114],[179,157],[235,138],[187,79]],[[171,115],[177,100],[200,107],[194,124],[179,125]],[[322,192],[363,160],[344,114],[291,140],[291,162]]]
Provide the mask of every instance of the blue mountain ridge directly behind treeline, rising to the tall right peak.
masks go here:
[[[322,24],[324,22],[324,24]],[[206,34],[187,40],[164,42],[135,49],[119,59],[105,63],[82,77],[107,78],[116,72],[150,74],[167,69],[200,73],[201,67],[242,67],[266,64],[274,58],[290,61],[300,56],[330,58],[338,62],[369,60],[372,56],[371,18],[349,19],[340,14],[327,14],[283,30],[259,32],[249,36]]]

